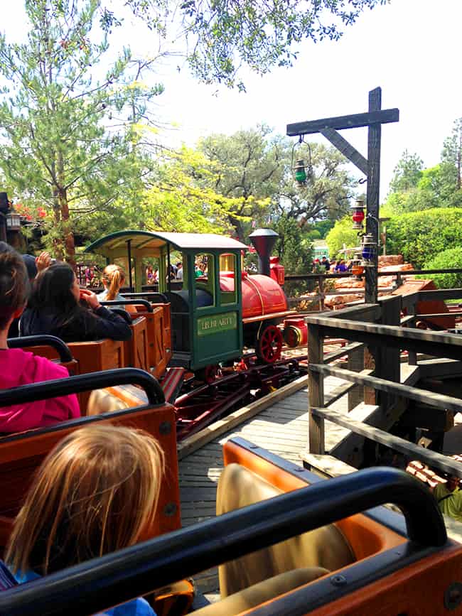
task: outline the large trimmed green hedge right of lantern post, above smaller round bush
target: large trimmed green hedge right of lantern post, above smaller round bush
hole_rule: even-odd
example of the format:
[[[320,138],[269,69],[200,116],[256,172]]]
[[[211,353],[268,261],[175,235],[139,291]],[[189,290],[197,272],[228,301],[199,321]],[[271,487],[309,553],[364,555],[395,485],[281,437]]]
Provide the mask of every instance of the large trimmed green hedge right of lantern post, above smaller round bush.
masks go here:
[[[423,268],[449,248],[462,246],[462,208],[435,207],[392,217],[387,222],[387,252]],[[446,267],[450,267],[449,264]]]

